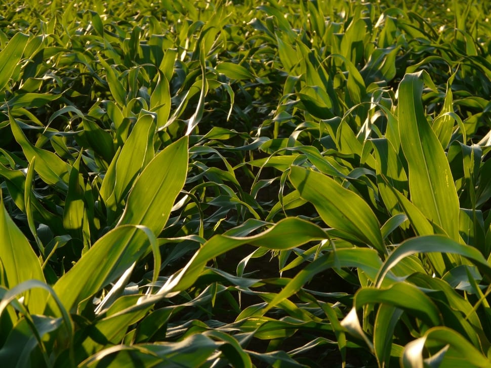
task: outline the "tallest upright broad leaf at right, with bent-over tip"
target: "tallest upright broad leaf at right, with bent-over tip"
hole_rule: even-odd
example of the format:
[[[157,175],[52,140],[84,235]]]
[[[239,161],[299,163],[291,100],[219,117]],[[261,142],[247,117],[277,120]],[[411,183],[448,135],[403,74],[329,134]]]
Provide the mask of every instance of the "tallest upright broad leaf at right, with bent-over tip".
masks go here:
[[[426,120],[422,76],[423,72],[406,74],[398,90],[399,134],[411,199],[430,221],[459,241],[459,198],[445,152]]]

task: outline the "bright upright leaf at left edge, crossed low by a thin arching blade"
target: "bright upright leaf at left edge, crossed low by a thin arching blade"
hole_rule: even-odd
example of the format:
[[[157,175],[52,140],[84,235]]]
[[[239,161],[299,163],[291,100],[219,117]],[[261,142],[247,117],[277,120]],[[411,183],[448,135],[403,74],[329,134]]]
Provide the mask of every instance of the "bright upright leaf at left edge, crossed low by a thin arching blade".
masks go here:
[[[0,193],[0,260],[3,266],[5,287],[13,289],[16,285],[31,279],[44,281],[45,277],[39,260],[26,237],[10,218]],[[34,289],[25,296],[25,305],[30,313],[43,313],[47,293]]]

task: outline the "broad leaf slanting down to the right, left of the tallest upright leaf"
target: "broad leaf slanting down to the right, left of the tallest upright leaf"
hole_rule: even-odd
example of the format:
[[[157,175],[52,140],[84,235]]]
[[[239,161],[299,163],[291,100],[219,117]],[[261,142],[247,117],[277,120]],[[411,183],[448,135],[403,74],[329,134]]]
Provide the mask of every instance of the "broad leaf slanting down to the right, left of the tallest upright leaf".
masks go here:
[[[380,224],[360,196],[328,176],[297,166],[292,167],[290,180],[300,196],[314,205],[326,224],[354,235],[380,254],[387,253]]]

